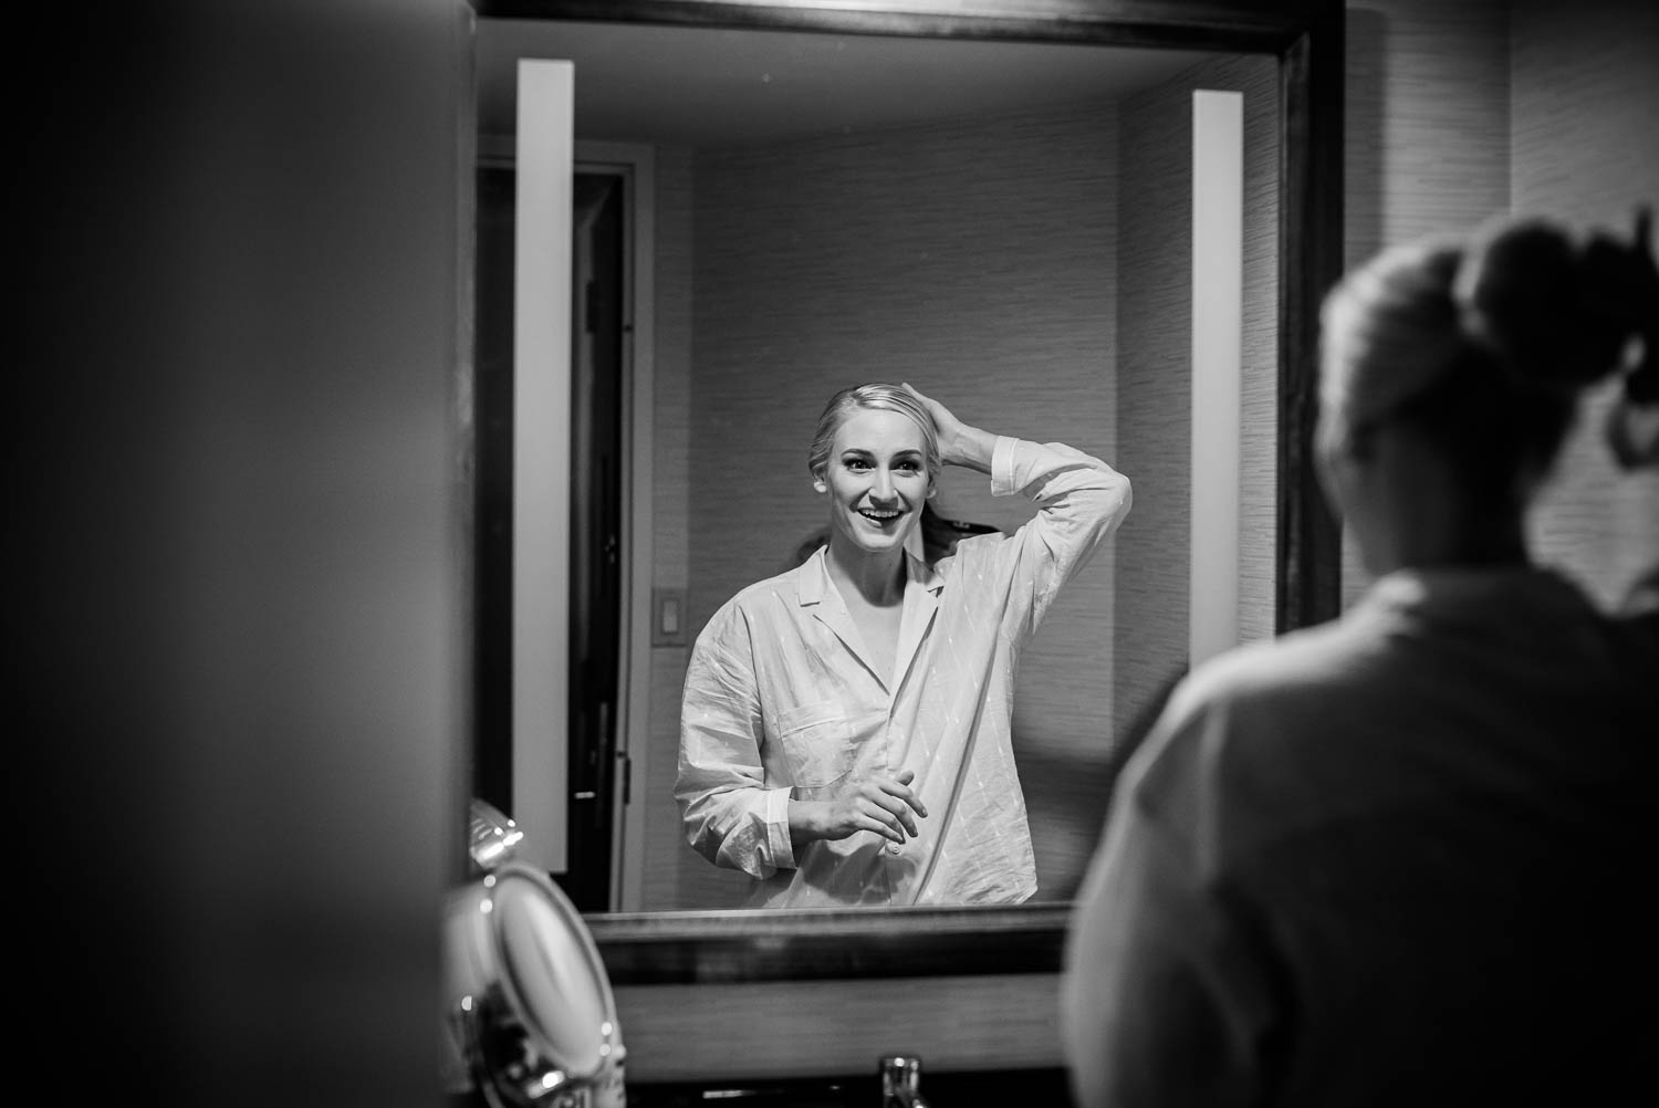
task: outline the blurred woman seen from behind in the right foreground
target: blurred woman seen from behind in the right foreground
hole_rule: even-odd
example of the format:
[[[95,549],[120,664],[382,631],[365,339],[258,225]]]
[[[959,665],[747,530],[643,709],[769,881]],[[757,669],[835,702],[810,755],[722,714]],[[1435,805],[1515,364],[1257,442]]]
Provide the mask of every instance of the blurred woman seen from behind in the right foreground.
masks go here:
[[[1632,335],[1651,391],[1646,249],[1538,222],[1331,297],[1319,456],[1379,577],[1194,670],[1125,771],[1067,950],[1080,1105],[1654,1088],[1659,657],[1525,544]]]

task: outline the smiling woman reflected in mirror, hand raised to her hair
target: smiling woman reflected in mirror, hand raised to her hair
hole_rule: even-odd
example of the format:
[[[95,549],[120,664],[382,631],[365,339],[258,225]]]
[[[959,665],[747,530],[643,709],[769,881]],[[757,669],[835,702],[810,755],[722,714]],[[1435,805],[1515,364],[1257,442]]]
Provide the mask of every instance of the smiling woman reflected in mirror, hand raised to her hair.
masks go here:
[[[939,468],[1025,493],[1014,536],[906,552]],[[1017,902],[1037,887],[1009,722],[1058,587],[1123,519],[1128,481],[1070,446],[990,435],[909,386],[836,393],[808,454],[830,541],[698,635],[675,798],[752,906]]]

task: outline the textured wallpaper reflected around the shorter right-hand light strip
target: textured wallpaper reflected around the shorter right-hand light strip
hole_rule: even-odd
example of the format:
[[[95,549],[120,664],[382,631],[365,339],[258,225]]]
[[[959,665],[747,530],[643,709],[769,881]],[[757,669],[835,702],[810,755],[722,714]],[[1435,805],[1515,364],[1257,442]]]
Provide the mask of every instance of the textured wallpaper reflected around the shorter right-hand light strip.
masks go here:
[[[1239,637],[1272,634],[1277,511],[1277,66],[1218,58],[1123,103],[1118,448],[1135,513],[1118,544],[1117,736],[1131,743],[1186,668],[1191,501],[1194,88],[1244,95]],[[1125,751],[1126,753],[1126,751]]]

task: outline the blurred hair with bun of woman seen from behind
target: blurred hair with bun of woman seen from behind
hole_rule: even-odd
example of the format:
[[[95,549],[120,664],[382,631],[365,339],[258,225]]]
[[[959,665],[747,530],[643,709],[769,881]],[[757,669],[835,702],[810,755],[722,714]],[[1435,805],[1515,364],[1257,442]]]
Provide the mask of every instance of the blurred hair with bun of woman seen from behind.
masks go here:
[[[1626,395],[1659,393],[1659,274],[1634,242],[1538,219],[1379,254],[1327,297],[1322,418],[1339,441],[1410,430],[1473,503],[1513,508],[1550,469],[1578,393],[1642,357]]]

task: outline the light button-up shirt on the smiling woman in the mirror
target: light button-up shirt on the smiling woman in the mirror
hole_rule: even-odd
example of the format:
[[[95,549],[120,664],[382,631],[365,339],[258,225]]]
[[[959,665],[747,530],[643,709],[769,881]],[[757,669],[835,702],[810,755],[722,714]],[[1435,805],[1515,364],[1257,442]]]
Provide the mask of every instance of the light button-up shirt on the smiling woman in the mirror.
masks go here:
[[[907,557],[891,673],[869,662],[825,551],[738,592],[685,675],[675,799],[690,844],[755,877],[752,907],[1012,904],[1037,891],[1010,743],[1020,649],[1055,592],[1123,521],[1130,483],[1060,443],[1002,436],[992,494],[1037,516],[964,539],[934,569]],[[864,831],[790,846],[790,790],[914,770],[927,809],[902,848]]]

